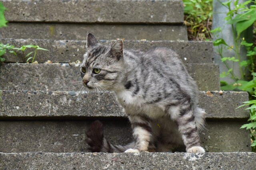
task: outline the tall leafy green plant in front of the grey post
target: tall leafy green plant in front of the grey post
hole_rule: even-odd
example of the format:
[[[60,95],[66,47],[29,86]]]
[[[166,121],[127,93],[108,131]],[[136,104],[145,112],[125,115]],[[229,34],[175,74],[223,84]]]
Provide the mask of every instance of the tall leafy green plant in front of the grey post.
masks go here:
[[[228,13],[226,13],[225,20],[227,24],[230,24],[232,27],[232,36],[233,36],[233,44],[228,45],[224,39],[218,38],[213,41],[214,46],[218,47],[218,55],[221,58],[221,61],[225,64],[228,69],[228,72],[222,72],[220,74],[221,77],[229,76],[232,80],[234,80],[234,87],[231,88],[230,84],[226,84],[226,82],[221,82],[222,90],[234,90],[236,85],[247,86],[245,81],[247,78],[245,77],[245,72],[250,71],[254,72],[254,62],[256,56],[256,48],[254,47],[253,43],[247,43],[244,38],[241,37],[243,31],[245,31],[248,27],[253,25],[256,21],[256,5],[251,5],[248,8],[246,5],[249,4],[251,1],[248,0],[244,3],[239,4],[238,0],[234,1],[233,6],[234,9],[231,8],[231,0],[228,2],[220,2],[224,7],[228,9]],[[216,28],[211,31],[211,33],[221,32],[220,28]],[[247,56],[248,60],[244,61],[241,59],[240,50],[241,47],[244,46],[247,49]],[[226,48],[230,51],[234,51],[234,57],[226,57],[223,56],[223,49]],[[234,63],[239,63],[239,70],[240,76],[234,73],[233,68],[228,64],[228,61]],[[241,82],[243,80],[244,82]],[[240,82],[238,82],[240,81]]]

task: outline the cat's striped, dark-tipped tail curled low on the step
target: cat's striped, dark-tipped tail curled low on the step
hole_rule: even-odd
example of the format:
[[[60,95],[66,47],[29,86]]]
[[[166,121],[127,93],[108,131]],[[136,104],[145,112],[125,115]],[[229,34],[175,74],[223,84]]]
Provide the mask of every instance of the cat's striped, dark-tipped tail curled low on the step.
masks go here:
[[[87,135],[87,143],[90,146],[89,150],[92,152],[124,152],[127,149],[134,148],[135,143],[130,143],[126,146],[121,145],[112,145],[110,144],[107,139],[103,135],[103,125],[100,121],[94,121],[88,131],[86,132]]]

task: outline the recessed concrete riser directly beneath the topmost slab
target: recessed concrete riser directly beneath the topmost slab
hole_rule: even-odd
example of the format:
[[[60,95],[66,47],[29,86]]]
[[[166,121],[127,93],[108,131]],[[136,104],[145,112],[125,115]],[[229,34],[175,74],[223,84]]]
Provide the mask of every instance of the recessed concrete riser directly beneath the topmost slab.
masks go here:
[[[98,39],[188,40],[184,25],[94,25],[64,23],[8,23],[1,38],[85,40],[88,33]]]

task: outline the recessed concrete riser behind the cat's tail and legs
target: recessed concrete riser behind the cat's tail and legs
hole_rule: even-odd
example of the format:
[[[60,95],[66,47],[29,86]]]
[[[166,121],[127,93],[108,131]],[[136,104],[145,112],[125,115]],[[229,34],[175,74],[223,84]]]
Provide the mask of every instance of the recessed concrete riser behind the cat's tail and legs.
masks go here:
[[[86,130],[92,121],[2,121],[0,152],[90,152]],[[113,144],[133,141],[126,119],[102,121],[104,136]],[[207,152],[251,151],[249,132],[240,129],[245,121],[208,121],[200,133]]]

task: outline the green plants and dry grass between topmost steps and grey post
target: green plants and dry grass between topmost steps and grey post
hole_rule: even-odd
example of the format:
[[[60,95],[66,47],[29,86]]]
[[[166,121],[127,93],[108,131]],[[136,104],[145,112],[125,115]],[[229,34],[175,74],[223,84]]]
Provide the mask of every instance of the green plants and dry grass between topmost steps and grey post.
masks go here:
[[[212,0],[183,0],[189,40],[210,39]]]

